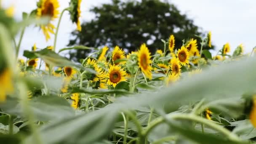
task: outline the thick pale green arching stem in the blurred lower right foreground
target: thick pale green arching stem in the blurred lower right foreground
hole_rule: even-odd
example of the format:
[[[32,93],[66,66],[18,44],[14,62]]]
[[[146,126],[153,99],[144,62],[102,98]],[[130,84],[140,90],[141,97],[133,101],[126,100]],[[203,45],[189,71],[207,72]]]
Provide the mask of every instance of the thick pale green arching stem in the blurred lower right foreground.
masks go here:
[[[222,126],[211,122],[210,120],[207,120],[205,118],[196,116],[196,115],[191,115],[191,114],[168,114],[166,115],[168,119],[174,119],[174,120],[191,120],[197,123],[204,124],[208,126],[209,128],[212,128],[213,130],[219,131],[222,133],[224,136],[226,136],[228,139],[232,141],[241,141],[239,137],[237,137],[234,133],[231,133],[229,130],[226,128],[223,128]],[[156,120],[152,121],[152,123],[149,125],[149,127],[144,131],[144,136],[147,136],[147,134],[155,128],[157,125],[160,123],[163,123],[165,119],[163,117],[159,117]]]

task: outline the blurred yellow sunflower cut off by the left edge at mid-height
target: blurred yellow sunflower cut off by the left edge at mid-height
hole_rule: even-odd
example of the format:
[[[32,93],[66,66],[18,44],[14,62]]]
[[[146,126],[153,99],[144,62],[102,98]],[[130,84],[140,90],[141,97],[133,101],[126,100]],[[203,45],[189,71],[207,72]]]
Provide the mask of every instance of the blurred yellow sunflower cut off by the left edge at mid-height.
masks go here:
[[[10,69],[0,72],[0,102],[5,101],[6,95],[13,92],[12,73]]]

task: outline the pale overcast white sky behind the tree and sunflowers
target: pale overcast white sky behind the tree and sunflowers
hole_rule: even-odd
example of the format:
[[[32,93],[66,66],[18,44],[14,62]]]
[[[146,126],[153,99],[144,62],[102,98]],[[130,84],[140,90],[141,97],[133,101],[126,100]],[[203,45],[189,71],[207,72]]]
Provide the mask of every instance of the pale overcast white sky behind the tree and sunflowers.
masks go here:
[[[15,17],[21,19],[21,13],[29,13],[36,8],[38,0],[2,0],[5,7],[15,6]],[[245,52],[248,53],[256,45],[256,11],[255,0],[169,0],[174,3],[182,13],[187,13],[195,24],[202,27],[205,32],[212,31],[212,43],[219,50],[224,43],[229,42],[233,51],[237,45],[243,43]],[[82,21],[93,19],[89,9],[111,0],[82,0]],[[69,0],[59,0],[63,10]],[[55,24],[57,20],[55,21]],[[66,12],[61,21],[57,49],[64,48],[69,43],[70,33],[76,28],[69,20]],[[44,48],[53,45],[53,36],[47,43],[43,33],[37,27],[26,29],[21,49],[30,49],[36,43],[37,47]],[[22,55],[23,53],[20,53]]]

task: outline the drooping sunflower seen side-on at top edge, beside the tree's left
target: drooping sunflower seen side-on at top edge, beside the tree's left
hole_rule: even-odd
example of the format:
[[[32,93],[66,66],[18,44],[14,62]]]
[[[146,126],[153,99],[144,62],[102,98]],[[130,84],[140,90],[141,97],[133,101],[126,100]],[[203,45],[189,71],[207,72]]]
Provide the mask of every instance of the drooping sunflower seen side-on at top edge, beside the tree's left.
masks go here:
[[[81,2],[82,0],[71,0],[69,6],[70,19],[77,24],[77,30],[81,31],[80,16],[81,16]]]

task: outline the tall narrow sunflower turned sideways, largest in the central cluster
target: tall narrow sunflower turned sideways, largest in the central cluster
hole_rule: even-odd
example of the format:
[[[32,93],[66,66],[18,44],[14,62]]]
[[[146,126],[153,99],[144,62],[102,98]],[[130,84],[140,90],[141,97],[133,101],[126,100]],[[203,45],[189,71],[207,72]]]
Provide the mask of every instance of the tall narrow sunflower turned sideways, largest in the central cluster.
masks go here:
[[[142,44],[140,50],[138,51],[138,62],[139,62],[139,68],[141,68],[141,71],[148,77],[150,80],[152,79],[152,67],[150,64],[152,61],[150,60],[149,49],[147,48],[146,44]]]

